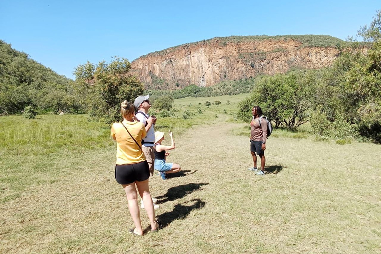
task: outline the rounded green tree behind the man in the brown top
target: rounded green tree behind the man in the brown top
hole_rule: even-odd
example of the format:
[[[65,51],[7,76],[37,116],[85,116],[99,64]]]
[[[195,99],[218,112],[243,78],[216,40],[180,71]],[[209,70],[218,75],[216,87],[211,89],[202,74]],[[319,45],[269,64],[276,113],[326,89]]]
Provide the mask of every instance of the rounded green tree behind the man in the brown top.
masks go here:
[[[248,122],[253,106],[280,126],[297,128],[309,121],[316,79],[313,71],[291,72],[263,77],[251,96],[239,103],[238,117]]]

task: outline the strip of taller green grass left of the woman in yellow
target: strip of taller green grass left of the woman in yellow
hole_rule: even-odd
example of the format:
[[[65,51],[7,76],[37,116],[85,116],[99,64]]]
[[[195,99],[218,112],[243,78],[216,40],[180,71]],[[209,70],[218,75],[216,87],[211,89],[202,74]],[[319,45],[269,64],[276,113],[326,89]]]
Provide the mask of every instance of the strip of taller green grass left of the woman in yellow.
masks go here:
[[[113,146],[110,127],[85,115],[0,118],[0,155],[40,155]]]

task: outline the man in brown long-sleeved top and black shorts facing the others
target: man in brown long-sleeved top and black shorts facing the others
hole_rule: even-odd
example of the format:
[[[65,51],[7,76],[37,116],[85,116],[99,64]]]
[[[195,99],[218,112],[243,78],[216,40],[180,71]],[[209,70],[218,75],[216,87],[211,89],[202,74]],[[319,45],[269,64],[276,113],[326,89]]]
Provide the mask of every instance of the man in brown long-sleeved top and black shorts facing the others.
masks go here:
[[[253,168],[249,168],[249,170],[255,171],[257,175],[264,175],[264,166],[266,164],[264,150],[266,150],[267,122],[262,118],[259,125],[259,119],[262,116],[262,109],[259,106],[252,108],[252,115],[253,119],[250,122],[250,153],[253,157]],[[258,170],[256,166],[256,154],[260,157],[260,170]]]

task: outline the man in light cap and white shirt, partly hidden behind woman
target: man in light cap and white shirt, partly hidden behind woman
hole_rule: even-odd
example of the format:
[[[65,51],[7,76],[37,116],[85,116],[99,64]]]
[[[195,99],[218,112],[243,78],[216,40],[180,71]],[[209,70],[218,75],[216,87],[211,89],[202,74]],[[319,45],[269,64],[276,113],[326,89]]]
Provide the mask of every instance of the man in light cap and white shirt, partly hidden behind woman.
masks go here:
[[[154,124],[156,123],[156,117],[148,115],[148,110],[151,108],[151,103],[149,101],[149,94],[146,96],[139,96],[135,99],[134,102],[136,112],[136,118],[142,122],[145,126],[145,131],[147,136],[141,140],[141,148],[148,162],[149,172],[153,176],[154,163],[155,163],[155,154],[154,154],[154,144],[155,144],[155,130]],[[157,199],[152,198],[152,200],[157,201]],[[144,208],[143,203],[141,207]],[[154,204],[154,208],[159,208],[158,205]]]

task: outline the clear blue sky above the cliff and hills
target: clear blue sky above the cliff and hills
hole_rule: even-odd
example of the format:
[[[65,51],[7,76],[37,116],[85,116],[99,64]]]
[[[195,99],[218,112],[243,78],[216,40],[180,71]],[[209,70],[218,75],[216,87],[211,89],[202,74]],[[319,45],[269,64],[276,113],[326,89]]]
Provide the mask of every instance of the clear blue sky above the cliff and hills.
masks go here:
[[[346,39],[381,0],[1,0],[0,39],[60,75],[86,61],[132,61],[230,35],[326,34]]]

